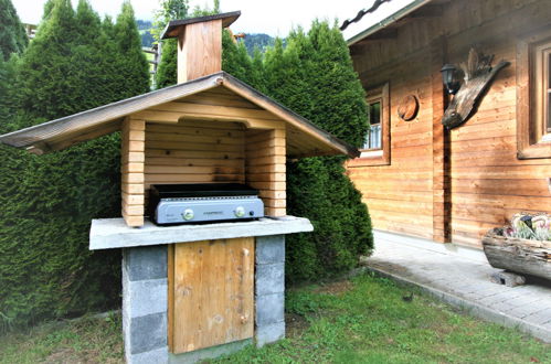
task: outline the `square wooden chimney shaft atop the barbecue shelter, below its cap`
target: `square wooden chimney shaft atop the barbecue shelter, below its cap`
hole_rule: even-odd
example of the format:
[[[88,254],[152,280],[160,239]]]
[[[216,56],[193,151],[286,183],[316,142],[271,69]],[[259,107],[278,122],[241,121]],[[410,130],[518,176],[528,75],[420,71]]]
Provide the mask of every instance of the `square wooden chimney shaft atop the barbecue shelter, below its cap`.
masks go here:
[[[222,71],[222,19],[187,24],[178,35],[178,83]]]

